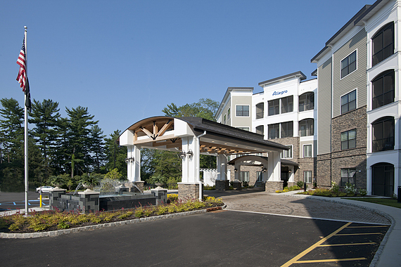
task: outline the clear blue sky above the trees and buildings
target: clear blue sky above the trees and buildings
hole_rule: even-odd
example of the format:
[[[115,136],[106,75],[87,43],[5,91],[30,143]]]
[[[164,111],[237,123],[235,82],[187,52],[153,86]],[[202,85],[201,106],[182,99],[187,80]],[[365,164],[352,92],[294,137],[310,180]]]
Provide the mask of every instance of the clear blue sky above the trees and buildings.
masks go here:
[[[32,98],[88,107],[104,134],[163,115],[167,104],[220,101],[227,87],[302,71],[373,0],[0,0],[0,98],[23,93],[16,60],[27,26]]]

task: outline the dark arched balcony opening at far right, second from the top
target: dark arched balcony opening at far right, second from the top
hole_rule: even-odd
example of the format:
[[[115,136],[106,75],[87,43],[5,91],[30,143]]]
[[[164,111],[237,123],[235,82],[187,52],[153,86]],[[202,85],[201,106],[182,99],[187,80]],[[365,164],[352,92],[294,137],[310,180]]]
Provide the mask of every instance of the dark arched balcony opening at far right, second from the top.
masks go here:
[[[394,102],[394,70],[379,74],[371,84],[373,86],[372,109]]]

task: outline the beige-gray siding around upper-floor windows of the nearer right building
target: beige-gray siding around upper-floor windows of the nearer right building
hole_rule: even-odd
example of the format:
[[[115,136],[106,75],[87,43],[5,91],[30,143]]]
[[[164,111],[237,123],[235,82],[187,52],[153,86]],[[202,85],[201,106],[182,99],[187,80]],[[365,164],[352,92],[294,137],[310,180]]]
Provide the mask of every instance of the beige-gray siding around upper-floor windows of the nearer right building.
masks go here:
[[[341,60],[357,51],[357,70],[341,79]],[[367,33],[364,29],[333,54],[333,117],[341,115],[341,96],[357,89],[357,108],[367,105]]]

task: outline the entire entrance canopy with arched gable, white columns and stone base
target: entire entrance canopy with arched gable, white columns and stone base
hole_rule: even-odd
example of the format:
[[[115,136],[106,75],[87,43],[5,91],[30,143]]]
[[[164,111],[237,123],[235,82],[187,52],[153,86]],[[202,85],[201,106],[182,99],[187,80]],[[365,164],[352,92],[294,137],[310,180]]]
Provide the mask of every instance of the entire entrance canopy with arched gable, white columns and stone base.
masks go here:
[[[267,141],[262,135],[244,131],[200,117],[149,117],[129,126],[118,138],[127,146],[128,178],[141,183],[140,148],[179,151],[182,182],[179,197],[200,198],[200,154],[217,156],[217,179],[227,180],[227,155],[267,152],[268,180],[280,181],[280,153],[285,145]],[[180,190],[182,188],[182,190]],[[180,193],[181,192],[181,193]],[[185,193],[182,193],[185,192]]]

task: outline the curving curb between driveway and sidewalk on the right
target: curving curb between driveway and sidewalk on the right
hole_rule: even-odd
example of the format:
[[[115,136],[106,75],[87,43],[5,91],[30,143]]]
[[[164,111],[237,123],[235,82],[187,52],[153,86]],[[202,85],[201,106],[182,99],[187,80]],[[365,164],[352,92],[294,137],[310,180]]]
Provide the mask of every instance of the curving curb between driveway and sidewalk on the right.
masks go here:
[[[280,194],[281,195],[281,194]],[[388,241],[388,237],[390,236],[391,231],[393,230],[394,226],[395,226],[395,219],[393,218],[393,216],[391,216],[390,214],[387,214],[386,212],[383,212],[379,209],[375,209],[372,207],[367,207],[363,204],[358,204],[358,203],[353,203],[349,201],[345,200],[339,200],[339,199],[333,199],[330,197],[318,197],[318,196],[314,196],[314,195],[284,195],[285,197],[297,197],[297,198],[309,198],[311,200],[319,200],[319,201],[325,201],[325,202],[332,202],[332,203],[338,203],[338,204],[345,204],[345,205],[349,205],[349,206],[353,206],[353,207],[358,207],[361,209],[366,209],[368,211],[374,211],[377,214],[380,214],[381,216],[385,217],[386,219],[388,219],[388,221],[390,221],[391,225],[390,228],[388,228],[388,231],[386,233],[386,235],[384,235],[383,240],[381,241],[380,246],[378,247],[376,254],[374,255],[374,258],[372,259],[369,267],[376,267],[376,264],[378,263],[378,260],[380,259],[381,254],[383,253],[383,249],[386,246],[386,243]]]

